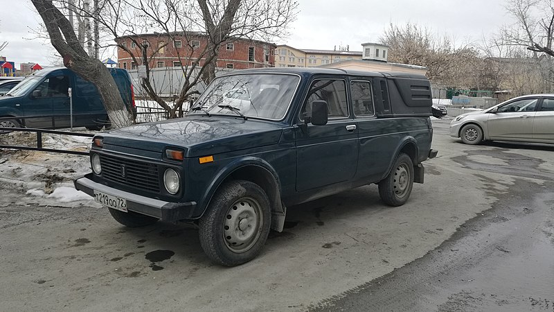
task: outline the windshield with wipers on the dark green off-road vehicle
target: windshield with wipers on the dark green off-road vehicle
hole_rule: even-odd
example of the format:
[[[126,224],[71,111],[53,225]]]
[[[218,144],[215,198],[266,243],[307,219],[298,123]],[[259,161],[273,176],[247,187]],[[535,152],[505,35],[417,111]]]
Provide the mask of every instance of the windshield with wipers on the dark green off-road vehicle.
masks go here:
[[[189,114],[242,114],[283,119],[300,78],[280,73],[244,73],[215,78]]]

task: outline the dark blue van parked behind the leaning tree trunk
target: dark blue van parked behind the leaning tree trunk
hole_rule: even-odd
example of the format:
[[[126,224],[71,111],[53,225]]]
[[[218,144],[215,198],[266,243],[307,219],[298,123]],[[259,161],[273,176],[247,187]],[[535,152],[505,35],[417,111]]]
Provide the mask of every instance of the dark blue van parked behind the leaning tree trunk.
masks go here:
[[[134,110],[131,78],[125,69],[110,68],[123,102]],[[109,125],[98,89],[65,67],[42,69],[0,98],[0,127],[69,128],[71,88],[73,127],[99,130]],[[11,118],[12,117],[12,118]]]

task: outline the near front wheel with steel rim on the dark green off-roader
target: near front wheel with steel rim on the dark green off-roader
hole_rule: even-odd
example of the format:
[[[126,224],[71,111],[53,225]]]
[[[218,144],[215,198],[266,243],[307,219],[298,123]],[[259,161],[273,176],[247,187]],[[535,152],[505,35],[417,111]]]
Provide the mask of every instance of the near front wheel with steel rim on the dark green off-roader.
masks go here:
[[[200,245],[215,263],[238,266],[262,250],[270,225],[269,199],[258,184],[226,182],[200,219]]]

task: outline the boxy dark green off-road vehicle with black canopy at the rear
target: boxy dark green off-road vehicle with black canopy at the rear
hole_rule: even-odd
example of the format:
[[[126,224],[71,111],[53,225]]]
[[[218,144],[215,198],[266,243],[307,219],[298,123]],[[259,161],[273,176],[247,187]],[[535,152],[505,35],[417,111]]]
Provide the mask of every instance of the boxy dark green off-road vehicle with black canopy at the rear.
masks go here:
[[[184,118],[96,135],[93,172],[75,188],[128,227],[196,223],[208,257],[236,266],[283,230],[292,205],[370,183],[403,205],[437,153],[430,115],[422,75],[235,71]]]

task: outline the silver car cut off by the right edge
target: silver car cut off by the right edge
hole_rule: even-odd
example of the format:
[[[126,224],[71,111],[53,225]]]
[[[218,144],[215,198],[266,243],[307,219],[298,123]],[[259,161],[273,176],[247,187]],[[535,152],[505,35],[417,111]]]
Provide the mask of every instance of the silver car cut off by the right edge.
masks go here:
[[[450,136],[465,144],[485,140],[554,144],[554,94],[519,96],[456,116],[450,123]]]

